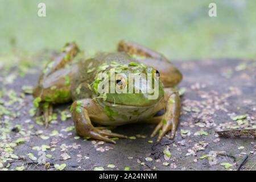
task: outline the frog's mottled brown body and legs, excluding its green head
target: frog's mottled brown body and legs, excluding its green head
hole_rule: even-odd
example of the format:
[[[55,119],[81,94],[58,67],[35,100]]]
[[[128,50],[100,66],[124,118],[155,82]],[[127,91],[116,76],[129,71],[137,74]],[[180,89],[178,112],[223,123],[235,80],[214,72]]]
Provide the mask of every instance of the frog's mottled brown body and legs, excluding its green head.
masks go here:
[[[102,130],[105,127],[94,127],[92,122],[97,123],[98,125],[118,126],[130,122],[138,122],[138,119],[140,119],[141,122],[157,124],[155,130],[151,134],[151,137],[154,137],[159,133],[159,130],[162,130],[157,141],[162,139],[168,131],[171,131],[172,139],[175,137],[181,106],[179,94],[173,86],[177,85],[182,80],[182,75],[179,70],[166,59],[166,57],[135,43],[120,42],[118,44],[118,52],[120,53],[112,53],[106,56],[100,55],[97,56],[96,59],[86,60],[86,64],[84,64],[84,62],[73,64],[71,63],[71,60],[76,56],[78,51],[79,49],[75,43],[67,44],[64,47],[63,52],[49,62],[46,67],[47,69],[44,69],[42,76],[39,78],[38,85],[34,89],[34,97],[40,97],[42,100],[40,102],[39,110],[43,111],[46,123],[51,120],[53,104],[73,100],[73,122],[76,128],[76,133],[81,137],[90,137],[115,143],[115,141],[109,137],[127,137],[122,134],[107,133]],[[127,53],[129,55],[144,56],[144,59],[134,60],[127,55]],[[163,82],[165,87],[164,98],[159,98],[158,101],[155,101],[154,104],[152,104],[151,111],[148,111],[148,113],[145,112],[146,114],[144,113],[141,118],[138,116],[137,119],[131,119],[130,117],[129,121],[125,121],[121,118],[118,120],[117,118],[118,121],[112,122],[106,114],[100,99],[97,98],[92,100],[95,93],[93,93],[87,85],[95,80],[94,76],[96,76],[96,73],[92,72],[86,74],[83,70],[89,69],[87,67],[90,62],[97,66],[101,63],[108,63],[108,59],[111,60],[115,56],[121,58],[122,64],[129,62],[143,63],[148,67],[157,69],[160,73],[160,81]],[[51,66],[49,67],[49,65]],[[67,82],[67,77],[69,78],[69,84]],[[76,89],[79,86],[81,92],[78,94]],[[134,110],[137,108],[138,110],[143,110],[143,108],[146,108],[129,104],[127,104],[127,106],[121,105],[118,107],[120,107],[120,109],[125,108],[126,110]],[[118,110],[118,107],[115,107],[114,109],[117,108]],[[165,110],[163,115],[152,117],[158,113],[158,111],[163,109]],[[163,122],[163,119],[165,122]]]

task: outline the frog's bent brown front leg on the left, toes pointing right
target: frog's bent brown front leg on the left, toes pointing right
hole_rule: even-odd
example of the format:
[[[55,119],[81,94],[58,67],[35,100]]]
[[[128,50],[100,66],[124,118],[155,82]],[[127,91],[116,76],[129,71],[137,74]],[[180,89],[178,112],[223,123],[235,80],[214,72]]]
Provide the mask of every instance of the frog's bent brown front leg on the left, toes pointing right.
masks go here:
[[[108,137],[127,138],[125,135],[108,133],[94,127],[90,121],[90,117],[106,117],[105,112],[102,112],[92,99],[86,98],[84,100],[75,101],[72,104],[72,117],[75,125],[76,133],[81,137],[90,137],[98,140],[104,140],[115,144],[115,141]]]

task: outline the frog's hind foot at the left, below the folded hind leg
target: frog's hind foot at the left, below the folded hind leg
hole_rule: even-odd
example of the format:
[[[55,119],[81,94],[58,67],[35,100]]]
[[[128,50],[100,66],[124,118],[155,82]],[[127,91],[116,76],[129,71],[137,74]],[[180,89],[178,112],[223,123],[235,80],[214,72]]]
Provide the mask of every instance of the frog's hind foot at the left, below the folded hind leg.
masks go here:
[[[36,115],[43,113],[43,120],[46,125],[46,128],[49,126],[49,122],[52,121],[53,105],[50,102],[40,102],[37,109]]]

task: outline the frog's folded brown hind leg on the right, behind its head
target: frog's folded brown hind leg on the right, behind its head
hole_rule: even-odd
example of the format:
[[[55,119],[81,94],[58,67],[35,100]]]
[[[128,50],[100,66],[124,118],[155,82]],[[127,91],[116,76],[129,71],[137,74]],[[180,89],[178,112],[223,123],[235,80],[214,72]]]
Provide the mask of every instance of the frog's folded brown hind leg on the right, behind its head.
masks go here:
[[[135,59],[139,63],[153,67],[160,73],[160,80],[165,87],[175,86],[182,80],[182,74],[171,62],[162,54],[152,51],[151,49],[131,42],[119,42],[118,51],[124,51],[131,56],[135,55]],[[142,56],[142,57],[137,57]]]

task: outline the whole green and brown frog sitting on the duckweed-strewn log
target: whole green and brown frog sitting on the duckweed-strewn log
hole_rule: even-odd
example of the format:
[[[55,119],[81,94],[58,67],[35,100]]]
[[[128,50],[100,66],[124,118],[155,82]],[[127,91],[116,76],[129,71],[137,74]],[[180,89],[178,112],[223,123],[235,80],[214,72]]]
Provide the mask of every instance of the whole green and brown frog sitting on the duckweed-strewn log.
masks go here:
[[[164,136],[174,139],[181,110],[176,85],[183,75],[166,56],[123,40],[114,52],[77,60],[80,52],[75,42],[65,44],[43,69],[33,90],[37,113],[43,113],[47,126],[54,105],[72,102],[73,124],[82,138],[115,144],[114,139],[127,136],[110,129],[148,123],[156,125],[150,137],[158,134],[157,142]],[[134,75],[143,76],[136,82],[130,80]]]

